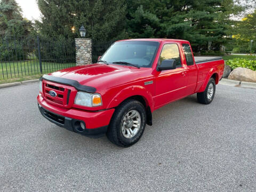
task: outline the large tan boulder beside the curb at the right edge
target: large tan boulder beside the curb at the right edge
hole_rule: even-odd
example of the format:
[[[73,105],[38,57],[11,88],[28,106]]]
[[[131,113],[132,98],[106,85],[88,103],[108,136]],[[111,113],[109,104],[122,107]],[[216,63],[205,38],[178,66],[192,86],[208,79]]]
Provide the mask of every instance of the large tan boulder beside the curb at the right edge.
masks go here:
[[[229,74],[228,79],[256,83],[256,71],[238,67]]]

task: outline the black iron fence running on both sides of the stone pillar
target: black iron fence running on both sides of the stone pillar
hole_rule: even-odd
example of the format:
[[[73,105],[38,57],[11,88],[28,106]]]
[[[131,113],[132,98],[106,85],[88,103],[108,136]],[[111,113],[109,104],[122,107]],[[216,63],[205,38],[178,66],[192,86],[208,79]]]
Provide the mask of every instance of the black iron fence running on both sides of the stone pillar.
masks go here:
[[[113,42],[92,40],[92,62],[97,62]],[[0,37],[0,82],[73,66],[76,66],[75,39]]]

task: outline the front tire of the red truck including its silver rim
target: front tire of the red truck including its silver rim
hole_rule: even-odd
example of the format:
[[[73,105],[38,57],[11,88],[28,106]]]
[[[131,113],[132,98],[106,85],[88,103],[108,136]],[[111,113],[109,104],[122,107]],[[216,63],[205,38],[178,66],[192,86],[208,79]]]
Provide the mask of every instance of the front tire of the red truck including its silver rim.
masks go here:
[[[121,147],[138,142],[146,127],[145,107],[137,100],[129,99],[119,105],[111,118],[107,137]]]

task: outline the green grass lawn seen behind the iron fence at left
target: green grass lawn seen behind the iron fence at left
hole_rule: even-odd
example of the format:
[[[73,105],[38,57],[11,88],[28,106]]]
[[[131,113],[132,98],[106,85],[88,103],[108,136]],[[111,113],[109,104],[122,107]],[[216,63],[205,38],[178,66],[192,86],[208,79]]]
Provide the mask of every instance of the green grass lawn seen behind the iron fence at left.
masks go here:
[[[76,66],[76,63],[42,61],[43,74],[73,66]],[[0,62],[0,84],[35,79],[40,76],[42,74],[40,73],[39,60]]]

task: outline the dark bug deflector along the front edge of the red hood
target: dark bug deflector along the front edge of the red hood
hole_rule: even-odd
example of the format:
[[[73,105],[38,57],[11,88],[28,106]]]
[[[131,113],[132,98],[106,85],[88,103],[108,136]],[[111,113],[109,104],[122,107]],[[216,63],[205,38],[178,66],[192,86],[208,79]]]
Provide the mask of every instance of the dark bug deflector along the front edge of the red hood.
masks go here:
[[[42,79],[44,79],[46,81],[53,82],[53,83],[60,83],[63,85],[74,86],[76,88],[76,90],[78,90],[78,91],[84,91],[84,92],[88,92],[88,93],[96,92],[95,87],[81,85],[79,82],[72,80],[72,79],[67,79],[67,78],[62,78],[62,77],[54,77],[52,75],[43,75]]]

